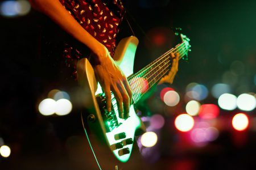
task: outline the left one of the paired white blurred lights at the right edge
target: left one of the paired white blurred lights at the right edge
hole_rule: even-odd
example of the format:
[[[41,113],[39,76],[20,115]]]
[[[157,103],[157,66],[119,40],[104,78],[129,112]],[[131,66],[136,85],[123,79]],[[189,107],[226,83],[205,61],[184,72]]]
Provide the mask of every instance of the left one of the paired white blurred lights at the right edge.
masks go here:
[[[232,94],[222,94],[218,98],[218,105],[224,110],[232,111],[237,108],[237,97]]]

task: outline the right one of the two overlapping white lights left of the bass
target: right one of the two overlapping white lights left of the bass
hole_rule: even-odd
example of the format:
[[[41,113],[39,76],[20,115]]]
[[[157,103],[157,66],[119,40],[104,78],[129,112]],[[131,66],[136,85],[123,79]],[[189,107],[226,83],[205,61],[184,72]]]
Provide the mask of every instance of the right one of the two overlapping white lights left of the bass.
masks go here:
[[[67,115],[72,111],[72,103],[67,99],[56,101],[55,113],[59,116]]]

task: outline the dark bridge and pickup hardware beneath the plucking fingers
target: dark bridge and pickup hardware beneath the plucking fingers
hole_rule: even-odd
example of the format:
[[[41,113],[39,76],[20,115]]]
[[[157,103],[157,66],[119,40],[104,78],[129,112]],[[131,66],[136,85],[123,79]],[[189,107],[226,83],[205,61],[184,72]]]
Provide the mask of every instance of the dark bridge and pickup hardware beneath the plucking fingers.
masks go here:
[[[98,105],[100,107],[101,116],[104,121],[104,125],[106,128],[106,132],[110,132],[113,129],[117,128],[119,125],[119,122],[117,120],[117,116],[114,111],[113,104],[111,104],[111,112],[108,112],[106,109],[106,98],[104,94],[100,94],[96,97]]]

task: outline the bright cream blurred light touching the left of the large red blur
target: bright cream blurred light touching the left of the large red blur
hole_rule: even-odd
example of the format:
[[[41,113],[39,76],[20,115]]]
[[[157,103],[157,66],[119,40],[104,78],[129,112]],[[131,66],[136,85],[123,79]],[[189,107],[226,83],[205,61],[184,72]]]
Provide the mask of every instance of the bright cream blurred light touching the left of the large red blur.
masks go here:
[[[180,114],[175,118],[174,124],[179,131],[189,131],[193,128],[195,121],[188,114]]]

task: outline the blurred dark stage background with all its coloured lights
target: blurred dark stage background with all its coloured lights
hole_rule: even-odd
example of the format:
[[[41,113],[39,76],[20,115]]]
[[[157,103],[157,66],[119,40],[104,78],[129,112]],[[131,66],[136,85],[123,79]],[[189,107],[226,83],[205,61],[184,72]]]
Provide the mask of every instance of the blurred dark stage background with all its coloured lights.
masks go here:
[[[138,106],[154,133],[146,143],[139,139],[123,169],[255,169],[256,1],[123,3],[140,41],[135,72],[176,45],[171,27],[182,28],[192,45],[174,83],[158,86]],[[0,169],[97,169],[74,107],[76,89],[56,79],[58,68],[42,63],[47,19],[27,1],[1,1],[0,12]],[[126,26],[121,36],[132,35]],[[53,94],[71,101],[71,113],[39,112]],[[108,164],[105,156],[100,164]]]

